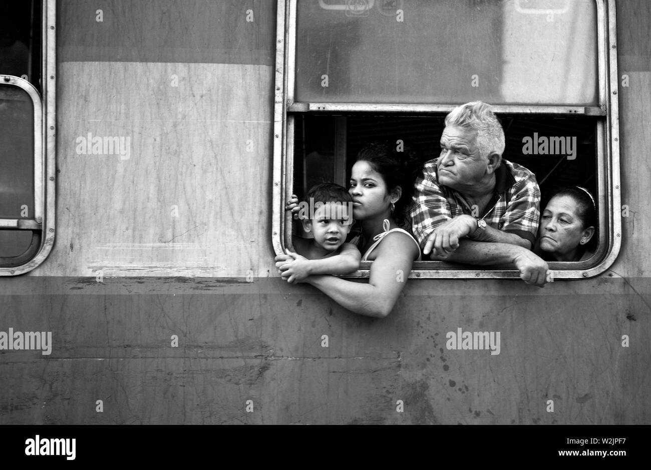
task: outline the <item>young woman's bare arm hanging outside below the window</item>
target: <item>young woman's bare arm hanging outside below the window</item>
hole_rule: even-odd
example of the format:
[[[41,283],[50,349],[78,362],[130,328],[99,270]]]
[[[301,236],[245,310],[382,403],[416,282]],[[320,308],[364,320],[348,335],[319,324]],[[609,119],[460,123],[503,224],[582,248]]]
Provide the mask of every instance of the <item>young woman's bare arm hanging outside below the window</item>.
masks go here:
[[[368,283],[355,283],[333,276],[310,276],[312,284],[346,309],[366,316],[383,318],[393,310],[408,279],[416,244],[406,234],[393,232],[376,248]]]

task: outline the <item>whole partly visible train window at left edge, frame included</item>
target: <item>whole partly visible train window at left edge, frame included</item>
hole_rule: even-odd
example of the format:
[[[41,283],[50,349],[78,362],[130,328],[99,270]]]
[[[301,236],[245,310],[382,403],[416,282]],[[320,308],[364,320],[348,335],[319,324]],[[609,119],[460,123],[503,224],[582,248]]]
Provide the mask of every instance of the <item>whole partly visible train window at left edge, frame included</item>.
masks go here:
[[[0,275],[33,270],[54,238],[55,1],[0,20]]]

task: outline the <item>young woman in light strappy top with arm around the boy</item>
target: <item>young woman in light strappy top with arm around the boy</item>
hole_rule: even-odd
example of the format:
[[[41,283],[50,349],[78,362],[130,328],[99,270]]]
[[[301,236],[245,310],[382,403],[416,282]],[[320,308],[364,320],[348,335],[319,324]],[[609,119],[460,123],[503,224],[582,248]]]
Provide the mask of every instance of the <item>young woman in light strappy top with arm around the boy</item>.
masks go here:
[[[403,158],[400,158],[400,157]],[[353,242],[363,253],[363,261],[373,261],[368,283],[358,283],[331,275],[305,278],[342,307],[366,316],[385,317],[392,310],[404,288],[414,260],[421,250],[411,234],[399,227],[404,223],[408,191],[413,180],[408,171],[408,152],[372,144],[357,155],[350,177],[353,217],[361,222],[361,234]],[[295,210],[290,201],[288,208]],[[292,257],[276,256],[281,276],[288,270]]]

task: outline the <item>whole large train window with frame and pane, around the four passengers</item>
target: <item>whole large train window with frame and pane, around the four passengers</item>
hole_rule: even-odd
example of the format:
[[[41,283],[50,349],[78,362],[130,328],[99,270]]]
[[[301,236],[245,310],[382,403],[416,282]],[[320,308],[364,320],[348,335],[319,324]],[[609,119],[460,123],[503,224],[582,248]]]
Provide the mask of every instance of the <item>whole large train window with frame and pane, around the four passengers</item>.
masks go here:
[[[553,262],[555,279],[598,275],[620,246],[613,0],[279,1],[273,241],[290,244],[282,211],[321,181],[347,186],[357,151],[409,142],[436,158],[445,115],[493,105],[503,157],[531,170],[542,204],[555,188],[596,195],[598,249]],[[282,73],[281,73],[282,72]],[[530,152],[526,138],[570,139],[574,153]],[[542,206],[544,208],[544,205]],[[542,211],[541,208],[541,211]],[[363,264],[355,276],[368,275]],[[411,277],[514,278],[511,266],[415,262]]]

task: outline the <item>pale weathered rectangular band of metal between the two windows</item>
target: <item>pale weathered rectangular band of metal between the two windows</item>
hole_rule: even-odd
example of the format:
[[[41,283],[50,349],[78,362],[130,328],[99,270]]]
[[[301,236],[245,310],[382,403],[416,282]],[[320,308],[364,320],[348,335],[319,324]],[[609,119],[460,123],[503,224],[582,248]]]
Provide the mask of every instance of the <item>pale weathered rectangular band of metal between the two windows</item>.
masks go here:
[[[59,68],[59,230],[33,274],[266,275],[271,67]]]

